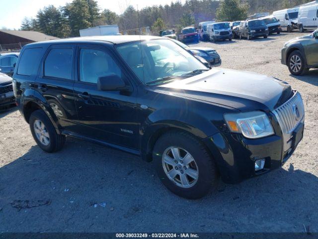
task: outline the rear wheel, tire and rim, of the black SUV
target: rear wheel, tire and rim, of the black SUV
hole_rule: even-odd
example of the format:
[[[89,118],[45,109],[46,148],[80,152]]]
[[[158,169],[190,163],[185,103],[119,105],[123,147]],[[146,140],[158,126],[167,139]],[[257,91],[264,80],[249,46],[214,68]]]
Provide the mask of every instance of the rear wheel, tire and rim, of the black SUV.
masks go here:
[[[56,152],[63,148],[65,135],[58,134],[51,120],[42,110],[33,112],[29,120],[31,133],[38,146],[46,152]]]

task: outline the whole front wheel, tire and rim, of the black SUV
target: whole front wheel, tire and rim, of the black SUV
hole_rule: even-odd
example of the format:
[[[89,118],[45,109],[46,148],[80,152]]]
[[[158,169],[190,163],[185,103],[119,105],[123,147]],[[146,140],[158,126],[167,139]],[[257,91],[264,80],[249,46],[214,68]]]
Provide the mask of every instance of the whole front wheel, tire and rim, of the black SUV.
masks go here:
[[[217,184],[217,168],[206,147],[183,131],[163,134],[153,151],[161,182],[174,194],[198,199]]]

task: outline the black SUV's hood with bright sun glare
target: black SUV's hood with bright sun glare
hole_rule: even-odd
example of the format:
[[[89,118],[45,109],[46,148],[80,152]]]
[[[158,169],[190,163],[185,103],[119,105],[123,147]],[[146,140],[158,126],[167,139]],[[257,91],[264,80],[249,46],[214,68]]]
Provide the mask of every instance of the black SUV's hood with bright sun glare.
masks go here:
[[[163,84],[157,89],[167,91],[170,95],[225,105],[241,111],[272,111],[292,94],[290,85],[273,77],[223,68]]]

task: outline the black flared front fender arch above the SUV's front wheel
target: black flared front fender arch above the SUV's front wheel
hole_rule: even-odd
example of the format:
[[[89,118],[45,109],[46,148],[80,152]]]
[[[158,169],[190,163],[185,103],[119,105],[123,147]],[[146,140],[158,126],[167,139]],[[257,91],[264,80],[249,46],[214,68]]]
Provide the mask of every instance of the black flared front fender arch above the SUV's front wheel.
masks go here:
[[[211,120],[200,114],[187,112],[180,115],[173,109],[162,109],[148,116],[141,124],[141,154],[146,161],[152,160],[152,149],[159,136],[171,129],[180,129],[191,133],[199,139],[204,139],[216,132],[218,129]]]

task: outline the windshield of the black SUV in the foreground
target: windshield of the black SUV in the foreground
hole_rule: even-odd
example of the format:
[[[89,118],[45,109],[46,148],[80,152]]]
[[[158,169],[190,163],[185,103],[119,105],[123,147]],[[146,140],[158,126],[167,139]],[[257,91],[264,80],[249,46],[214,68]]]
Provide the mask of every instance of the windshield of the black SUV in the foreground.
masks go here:
[[[209,70],[199,60],[169,39],[120,44],[117,51],[145,84],[164,79],[184,79],[192,71]]]

